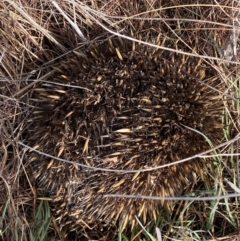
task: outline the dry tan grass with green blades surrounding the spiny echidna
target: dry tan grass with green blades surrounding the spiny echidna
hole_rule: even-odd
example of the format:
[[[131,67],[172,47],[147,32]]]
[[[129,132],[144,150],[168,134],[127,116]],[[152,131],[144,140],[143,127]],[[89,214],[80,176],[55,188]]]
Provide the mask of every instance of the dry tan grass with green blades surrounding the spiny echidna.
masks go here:
[[[224,60],[229,36],[239,25],[238,1],[47,1],[0,2],[0,239],[63,240],[48,202],[39,200],[27,166],[24,132],[31,119],[29,97],[37,81],[54,72],[49,66],[85,41],[134,33],[153,38],[161,33],[179,43],[172,51],[205,57],[228,86],[223,113],[223,142],[239,134],[239,53]],[[65,15],[63,14],[65,13]],[[68,18],[66,18],[68,16]],[[71,19],[71,21],[69,20]],[[236,20],[236,21],[234,21]],[[235,32],[238,35],[238,32]],[[147,43],[146,43],[147,44]],[[237,47],[238,47],[237,42]],[[167,46],[158,46],[166,48]],[[230,54],[231,55],[231,54]],[[230,56],[231,57],[231,56]],[[225,58],[226,60],[226,58]],[[231,62],[231,63],[230,63]],[[214,153],[212,153],[214,154]],[[215,152],[204,181],[187,187],[192,197],[239,194],[239,141]],[[118,234],[118,240],[240,240],[239,197],[212,201],[179,201],[172,213],[138,231]],[[120,224],[119,224],[120,225]],[[155,227],[158,227],[157,234]],[[154,238],[155,237],[155,238]]]

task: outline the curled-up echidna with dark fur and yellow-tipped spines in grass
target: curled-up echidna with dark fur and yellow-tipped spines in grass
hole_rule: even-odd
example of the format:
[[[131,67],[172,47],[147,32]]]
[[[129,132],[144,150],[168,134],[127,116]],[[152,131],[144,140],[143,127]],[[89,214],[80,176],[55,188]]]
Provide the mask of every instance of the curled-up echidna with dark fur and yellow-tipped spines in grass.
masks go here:
[[[209,149],[204,136],[220,142],[222,88],[215,70],[196,57],[120,38],[62,61],[34,90],[29,131],[35,149],[86,166],[31,152],[34,177],[53,198],[61,226],[72,231],[119,219],[125,227],[135,215],[156,218],[162,202],[104,195],[180,194],[201,172],[202,159],[141,170]]]

